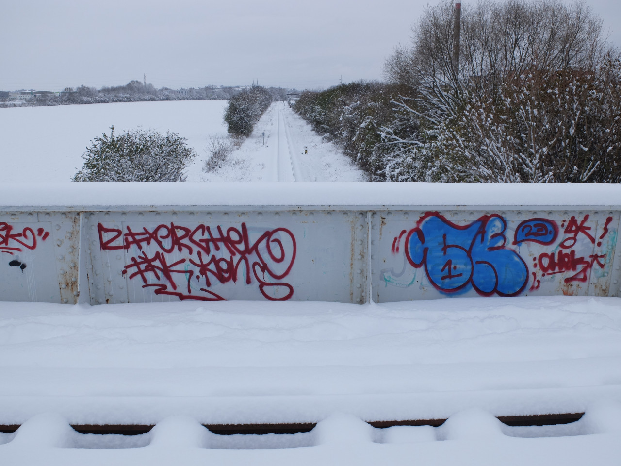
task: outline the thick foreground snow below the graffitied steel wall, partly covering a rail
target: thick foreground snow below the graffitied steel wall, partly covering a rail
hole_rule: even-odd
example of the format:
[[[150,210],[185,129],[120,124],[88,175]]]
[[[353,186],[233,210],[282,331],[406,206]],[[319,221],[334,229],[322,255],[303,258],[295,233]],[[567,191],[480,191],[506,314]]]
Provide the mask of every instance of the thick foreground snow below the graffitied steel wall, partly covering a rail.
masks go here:
[[[1,303],[0,424],[23,426],[0,434],[0,462],[616,465],[620,310],[620,298],[569,297]],[[564,426],[494,418],[582,411]],[[361,422],[434,418],[449,419]],[[290,422],[319,425],[267,436],[200,426]],[[136,437],[68,427],[90,423],[157,425]]]

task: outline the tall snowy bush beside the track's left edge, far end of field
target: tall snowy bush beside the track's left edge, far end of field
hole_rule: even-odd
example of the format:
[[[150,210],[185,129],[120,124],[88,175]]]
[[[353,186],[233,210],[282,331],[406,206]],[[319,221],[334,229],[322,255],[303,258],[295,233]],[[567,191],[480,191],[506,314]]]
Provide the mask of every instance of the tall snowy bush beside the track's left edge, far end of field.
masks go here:
[[[229,99],[224,109],[224,122],[233,137],[248,137],[256,122],[272,103],[270,92],[263,86],[252,86]]]

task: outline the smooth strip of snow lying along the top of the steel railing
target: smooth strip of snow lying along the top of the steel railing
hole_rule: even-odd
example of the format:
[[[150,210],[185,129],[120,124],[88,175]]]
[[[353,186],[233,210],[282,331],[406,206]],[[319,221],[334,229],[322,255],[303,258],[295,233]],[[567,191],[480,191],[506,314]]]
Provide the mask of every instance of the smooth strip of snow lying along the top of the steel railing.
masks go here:
[[[492,183],[3,183],[0,211],[189,210],[238,206],[403,209],[621,207],[619,185]]]

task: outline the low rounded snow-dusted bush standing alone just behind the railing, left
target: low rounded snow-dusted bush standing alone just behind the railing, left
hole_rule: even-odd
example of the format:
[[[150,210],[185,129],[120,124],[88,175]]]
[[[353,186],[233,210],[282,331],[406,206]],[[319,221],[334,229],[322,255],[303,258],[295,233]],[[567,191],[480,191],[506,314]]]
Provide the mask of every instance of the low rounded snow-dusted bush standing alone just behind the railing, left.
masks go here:
[[[176,133],[142,129],[103,134],[82,154],[84,165],[73,181],[184,181],[183,170],[196,153]]]

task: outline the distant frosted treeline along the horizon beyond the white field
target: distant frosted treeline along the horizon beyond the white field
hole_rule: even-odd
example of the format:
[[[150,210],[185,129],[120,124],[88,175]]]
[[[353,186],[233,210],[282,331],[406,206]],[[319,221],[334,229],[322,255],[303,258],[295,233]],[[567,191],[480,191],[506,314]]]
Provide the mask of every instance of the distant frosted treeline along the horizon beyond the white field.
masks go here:
[[[120,102],[176,101],[176,100],[220,100],[236,96],[248,86],[205,86],[175,91],[169,88],[156,89],[148,83],[132,80],[124,86],[104,86],[96,89],[89,86],[65,88],[60,94],[40,94],[25,99],[19,106],[54,106],[71,104],[104,104]],[[274,100],[286,100],[288,89],[265,88]],[[15,106],[7,98],[0,99],[0,106]]]

